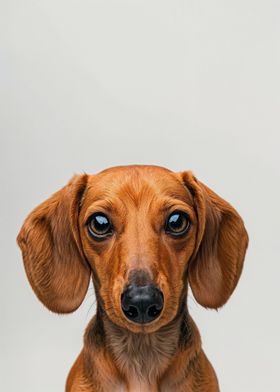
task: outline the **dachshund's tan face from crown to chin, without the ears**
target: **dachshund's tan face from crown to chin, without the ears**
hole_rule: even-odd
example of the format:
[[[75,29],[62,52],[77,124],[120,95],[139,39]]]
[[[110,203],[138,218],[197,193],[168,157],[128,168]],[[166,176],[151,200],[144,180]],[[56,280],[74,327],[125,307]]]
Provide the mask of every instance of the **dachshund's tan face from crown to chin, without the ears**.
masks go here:
[[[191,194],[179,178],[161,168],[93,176],[79,226],[109,317],[133,331],[171,321],[197,231]]]

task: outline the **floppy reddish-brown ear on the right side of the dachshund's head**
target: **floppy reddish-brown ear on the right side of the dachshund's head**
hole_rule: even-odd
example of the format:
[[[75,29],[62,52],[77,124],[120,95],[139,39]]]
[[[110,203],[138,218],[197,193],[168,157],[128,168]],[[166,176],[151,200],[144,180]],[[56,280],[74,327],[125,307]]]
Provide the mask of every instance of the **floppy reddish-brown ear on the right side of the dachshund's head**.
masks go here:
[[[248,235],[237,211],[191,172],[182,173],[198,216],[197,247],[188,278],[195,299],[207,308],[224,305],[239,280]]]

